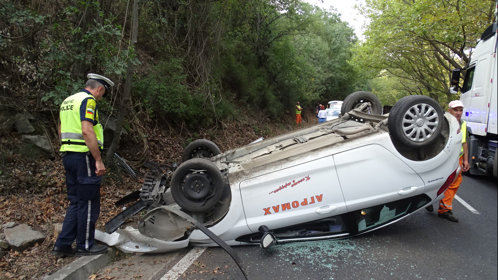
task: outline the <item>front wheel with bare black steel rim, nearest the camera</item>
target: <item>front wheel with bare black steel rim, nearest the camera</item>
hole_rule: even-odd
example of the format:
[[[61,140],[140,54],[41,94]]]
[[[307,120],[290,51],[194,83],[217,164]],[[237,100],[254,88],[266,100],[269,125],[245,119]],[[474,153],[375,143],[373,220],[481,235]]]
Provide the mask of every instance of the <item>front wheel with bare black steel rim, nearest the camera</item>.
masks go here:
[[[204,212],[220,201],[224,183],[220,170],[206,159],[188,160],[171,177],[171,195],[184,210]]]

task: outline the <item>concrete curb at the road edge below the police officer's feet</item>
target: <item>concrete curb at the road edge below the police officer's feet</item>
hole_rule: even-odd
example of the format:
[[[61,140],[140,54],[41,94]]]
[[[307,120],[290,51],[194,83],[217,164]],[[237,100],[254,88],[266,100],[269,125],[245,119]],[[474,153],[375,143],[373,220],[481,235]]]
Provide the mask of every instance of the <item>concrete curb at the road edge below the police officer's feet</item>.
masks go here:
[[[107,266],[115,259],[116,249],[111,247],[105,254],[85,256],[48,275],[43,280],[85,280],[92,273]]]

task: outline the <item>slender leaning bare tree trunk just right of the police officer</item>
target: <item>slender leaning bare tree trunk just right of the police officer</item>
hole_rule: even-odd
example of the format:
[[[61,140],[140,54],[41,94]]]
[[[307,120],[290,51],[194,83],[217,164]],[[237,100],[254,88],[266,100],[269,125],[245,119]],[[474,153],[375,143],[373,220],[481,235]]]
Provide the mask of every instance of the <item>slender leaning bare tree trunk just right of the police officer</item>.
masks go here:
[[[134,49],[137,44],[138,37],[138,1],[133,1],[133,22],[132,22],[132,38],[130,43],[130,49]],[[129,52],[130,53],[130,52]],[[132,86],[132,77],[135,66],[133,64],[133,59],[129,59],[128,69],[126,72],[126,81],[124,83],[123,98],[121,99],[121,105],[119,107],[119,112],[116,119],[116,130],[114,131],[114,137],[112,139],[111,146],[107,151],[106,165],[113,160],[113,155],[119,146],[119,140],[121,137],[121,130],[123,126],[124,116],[128,114],[128,106],[130,104],[130,89]]]

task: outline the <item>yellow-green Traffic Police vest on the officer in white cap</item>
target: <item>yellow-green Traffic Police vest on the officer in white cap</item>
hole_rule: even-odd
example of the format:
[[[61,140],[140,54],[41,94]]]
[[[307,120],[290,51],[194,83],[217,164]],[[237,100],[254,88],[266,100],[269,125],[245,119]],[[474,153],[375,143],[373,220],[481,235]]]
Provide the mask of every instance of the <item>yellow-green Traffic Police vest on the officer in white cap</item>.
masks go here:
[[[60,146],[60,151],[76,151],[76,152],[87,152],[88,147],[85,144],[85,139],[83,138],[83,132],[81,130],[81,114],[80,107],[83,100],[90,98],[95,100],[95,98],[86,92],[78,92],[66,100],[60,105],[59,117],[60,117],[60,135],[62,145]],[[104,130],[102,125],[99,123],[99,115],[96,108],[89,109],[86,108],[85,112],[87,115],[89,113],[95,114],[94,131],[97,136],[97,143],[102,149],[104,146]],[[95,112],[94,112],[95,111]]]

